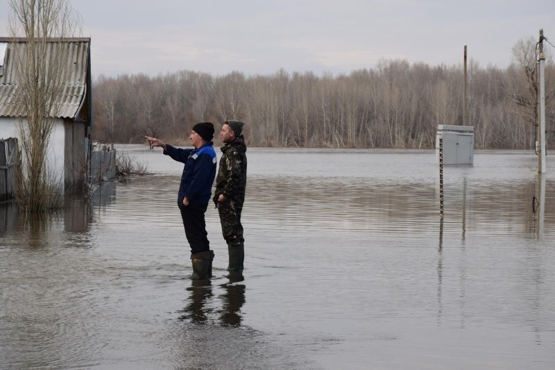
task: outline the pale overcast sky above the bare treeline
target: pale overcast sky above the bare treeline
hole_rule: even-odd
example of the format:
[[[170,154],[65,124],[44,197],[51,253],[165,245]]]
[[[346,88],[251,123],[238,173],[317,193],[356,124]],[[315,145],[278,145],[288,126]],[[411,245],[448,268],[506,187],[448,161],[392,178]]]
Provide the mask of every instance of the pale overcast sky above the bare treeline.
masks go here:
[[[71,0],[92,73],[349,73],[382,59],[506,67],[519,39],[555,44],[555,0]],[[0,0],[7,35],[9,6]],[[552,48],[547,45],[547,47]]]

